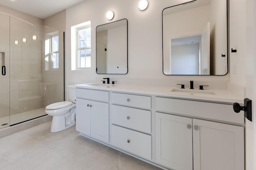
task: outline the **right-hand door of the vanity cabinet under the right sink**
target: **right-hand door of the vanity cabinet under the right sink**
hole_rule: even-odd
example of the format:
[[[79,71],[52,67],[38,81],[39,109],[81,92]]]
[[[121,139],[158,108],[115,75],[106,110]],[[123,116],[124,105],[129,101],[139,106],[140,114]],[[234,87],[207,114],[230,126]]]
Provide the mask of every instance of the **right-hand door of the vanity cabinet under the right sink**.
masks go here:
[[[194,170],[244,170],[244,127],[193,119]]]

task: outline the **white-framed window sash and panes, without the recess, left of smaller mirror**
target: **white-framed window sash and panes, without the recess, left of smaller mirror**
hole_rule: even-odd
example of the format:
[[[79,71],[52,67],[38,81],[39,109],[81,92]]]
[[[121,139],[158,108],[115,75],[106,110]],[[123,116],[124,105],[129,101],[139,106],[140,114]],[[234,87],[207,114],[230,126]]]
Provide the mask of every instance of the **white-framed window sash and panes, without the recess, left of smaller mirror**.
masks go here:
[[[76,68],[91,67],[91,27],[76,29]]]

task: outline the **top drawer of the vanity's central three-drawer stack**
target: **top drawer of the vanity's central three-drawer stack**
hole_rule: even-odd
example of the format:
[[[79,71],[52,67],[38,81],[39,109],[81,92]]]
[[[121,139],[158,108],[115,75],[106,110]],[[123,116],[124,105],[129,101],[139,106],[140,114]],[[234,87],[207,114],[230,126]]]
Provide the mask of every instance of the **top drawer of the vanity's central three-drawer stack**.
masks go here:
[[[138,96],[133,94],[120,94],[112,93],[112,103],[122,104],[126,106],[141,107],[145,109],[151,109],[151,97],[150,96]]]

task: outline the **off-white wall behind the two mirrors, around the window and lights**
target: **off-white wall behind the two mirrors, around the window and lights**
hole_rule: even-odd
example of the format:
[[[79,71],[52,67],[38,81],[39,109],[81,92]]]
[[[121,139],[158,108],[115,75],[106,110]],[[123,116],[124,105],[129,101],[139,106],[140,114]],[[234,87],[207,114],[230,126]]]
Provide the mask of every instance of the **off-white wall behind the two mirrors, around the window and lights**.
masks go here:
[[[162,10],[186,2],[186,0],[149,0],[145,11],[138,9],[138,0],[86,0],[66,10],[66,84],[94,82],[97,77],[228,81],[226,76],[166,76],[162,71]],[[128,74],[96,74],[96,26],[112,21],[106,20],[106,12],[114,11],[112,21],[128,20]],[[85,21],[92,27],[92,68],[71,71],[70,27]]]

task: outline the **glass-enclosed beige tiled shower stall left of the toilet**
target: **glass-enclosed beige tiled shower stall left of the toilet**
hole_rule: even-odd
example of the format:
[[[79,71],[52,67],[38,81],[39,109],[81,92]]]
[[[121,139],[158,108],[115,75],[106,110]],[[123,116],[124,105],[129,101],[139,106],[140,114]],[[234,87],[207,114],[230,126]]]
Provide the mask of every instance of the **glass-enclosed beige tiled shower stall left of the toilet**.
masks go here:
[[[64,101],[64,32],[0,12],[0,129]]]

